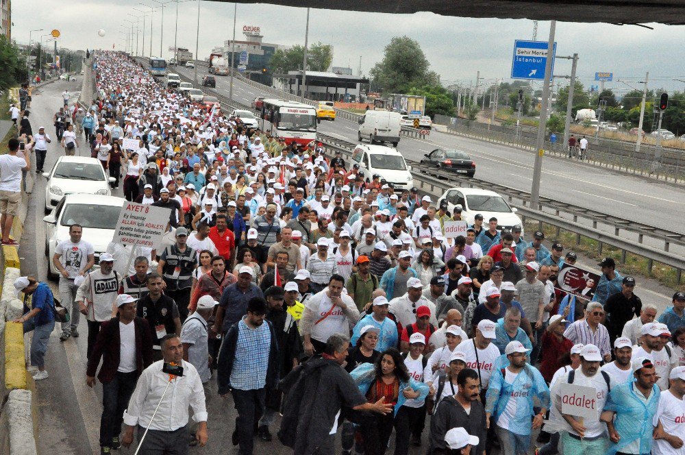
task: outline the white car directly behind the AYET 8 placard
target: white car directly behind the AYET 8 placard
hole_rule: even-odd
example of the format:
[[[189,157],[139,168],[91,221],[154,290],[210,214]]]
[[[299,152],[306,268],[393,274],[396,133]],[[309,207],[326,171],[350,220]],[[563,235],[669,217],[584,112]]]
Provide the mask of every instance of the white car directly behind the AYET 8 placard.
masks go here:
[[[123,197],[84,194],[71,194],[62,198],[55,210],[43,218],[46,223],[45,256],[49,258],[49,278],[59,276],[51,258],[55,255],[57,244],[69,238],[69,227],[73,224],[82,225],[82,239],[95,249],[97,264],[100,254],[106,251],[107,245],[112,241],[119,212],[125,202]]]

